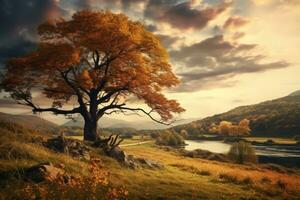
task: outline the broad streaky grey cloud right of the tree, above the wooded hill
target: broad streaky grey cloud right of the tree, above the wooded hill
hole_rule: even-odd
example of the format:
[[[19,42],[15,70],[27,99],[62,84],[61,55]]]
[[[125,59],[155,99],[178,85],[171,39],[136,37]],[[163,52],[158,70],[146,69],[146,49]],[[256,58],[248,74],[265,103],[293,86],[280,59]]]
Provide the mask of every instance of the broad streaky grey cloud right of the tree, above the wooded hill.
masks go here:
[[[178,73],[182,78],[179,91],[198,90],[219,83],[229,86],[233,83],[227,80],[238,74],[289,66],[285,61],[264,62],[264,55],[252,53],[255,47],[254,44],[226,41],[223,35],[217,35],[172,51],[172,60],[185,66],[185,70]]]

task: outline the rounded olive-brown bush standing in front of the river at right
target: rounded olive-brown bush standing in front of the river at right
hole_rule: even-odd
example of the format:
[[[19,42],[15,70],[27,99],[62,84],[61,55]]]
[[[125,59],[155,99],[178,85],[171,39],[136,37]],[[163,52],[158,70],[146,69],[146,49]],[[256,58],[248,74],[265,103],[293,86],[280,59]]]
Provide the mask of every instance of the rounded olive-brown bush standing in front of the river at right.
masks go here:
[[[257,157],[252,146],[244,141],[232,145],[228,152],[228,157],[238,164],[246,162],[257,163]]]

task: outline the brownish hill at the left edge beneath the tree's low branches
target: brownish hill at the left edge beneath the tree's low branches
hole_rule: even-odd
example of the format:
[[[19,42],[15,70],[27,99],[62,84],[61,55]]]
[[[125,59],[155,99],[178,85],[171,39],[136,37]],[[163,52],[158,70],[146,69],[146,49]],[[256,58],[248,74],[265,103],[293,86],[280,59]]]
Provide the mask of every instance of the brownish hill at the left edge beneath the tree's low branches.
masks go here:
[[[0,112],[0,121],[22,125],[28,129],[55,132],[59,126],[34,115],[12,115]]]

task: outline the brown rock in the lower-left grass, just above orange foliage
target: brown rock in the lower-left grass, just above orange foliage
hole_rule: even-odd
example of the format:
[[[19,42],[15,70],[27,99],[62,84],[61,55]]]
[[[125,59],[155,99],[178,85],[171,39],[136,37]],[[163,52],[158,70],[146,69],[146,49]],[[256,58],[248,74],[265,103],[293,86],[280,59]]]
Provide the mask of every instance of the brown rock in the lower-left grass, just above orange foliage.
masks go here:
[[[25,172],[26,177],[35,182],[53,181],[64,173],[63,169],[55,167],[52,163],[42,163],[29,168]]]

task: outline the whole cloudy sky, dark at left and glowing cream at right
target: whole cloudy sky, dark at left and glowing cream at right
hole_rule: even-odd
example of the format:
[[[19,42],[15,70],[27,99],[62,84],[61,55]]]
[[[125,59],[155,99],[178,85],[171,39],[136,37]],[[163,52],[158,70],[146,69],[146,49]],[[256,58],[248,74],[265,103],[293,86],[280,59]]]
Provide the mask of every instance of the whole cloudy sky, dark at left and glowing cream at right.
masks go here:
[[[0,2],[1,67],[35,47],[36,27],[43,21],[82,9],[109,9],[142,21],[168,49],[181,85],[166,94],[187,110],[182,118],[202,118],[300,89],[300,0]],[[29,113],[7,99],[0,99],[0,111]]]

